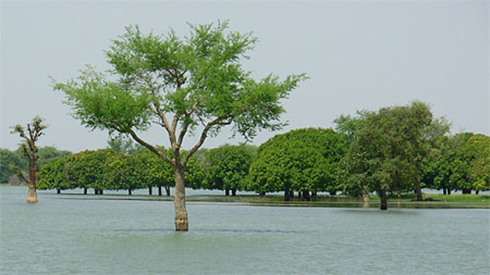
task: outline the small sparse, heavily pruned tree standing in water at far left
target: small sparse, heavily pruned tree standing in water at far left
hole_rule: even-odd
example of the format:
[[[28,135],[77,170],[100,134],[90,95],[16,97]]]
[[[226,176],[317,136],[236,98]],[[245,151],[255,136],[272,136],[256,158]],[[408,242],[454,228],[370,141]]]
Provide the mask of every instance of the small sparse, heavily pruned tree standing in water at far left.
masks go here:
[[[39,137],[44,135],[43,130],[48,126],[42,124],[43,119],[39,116],[36,116],[32,119],[32,123],[27,124],[27,129],[17,124],[12,127],[12,134],[19,134],[21,138],[23,138],[23,142],[21,143],[21,148],[24,155],[29,159],[29,177],[27,178],[24,173],[21,172],[20,168],[14,167],[14,169],[18,172],[19,176],[21,176],[26,183],[29,185],[29,189],[27,191],[27,202],[28,203],[37,203],[37,193],[36,193],[36,141]]]

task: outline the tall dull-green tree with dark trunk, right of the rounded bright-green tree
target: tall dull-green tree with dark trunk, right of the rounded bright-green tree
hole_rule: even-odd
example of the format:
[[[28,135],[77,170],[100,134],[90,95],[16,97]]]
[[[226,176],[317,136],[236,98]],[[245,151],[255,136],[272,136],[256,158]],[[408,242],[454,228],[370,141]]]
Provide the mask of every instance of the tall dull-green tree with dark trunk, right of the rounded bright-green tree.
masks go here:
[[[336,120],[338,129],[351,136],[339,173],[344,192],[360,197],[376,191],[382,210],[388,207],[388,191],[415,189],[421,200],[421,162],[429,153],[428,129],[433,121],[429,107],[415,101],[359,115]]]

